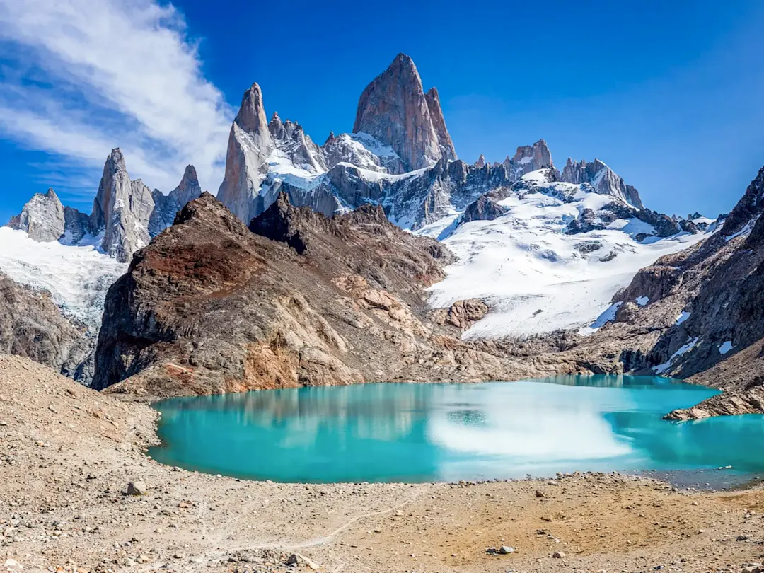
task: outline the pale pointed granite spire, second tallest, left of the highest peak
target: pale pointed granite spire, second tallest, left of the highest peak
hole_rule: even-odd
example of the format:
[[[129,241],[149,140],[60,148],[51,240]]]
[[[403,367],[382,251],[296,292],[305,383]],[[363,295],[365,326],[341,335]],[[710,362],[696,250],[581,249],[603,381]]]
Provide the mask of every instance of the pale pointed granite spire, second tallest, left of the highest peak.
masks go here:
[[[275,119],[278,119],[277,115]],[[225,177],[218,190],[218,199],[244,222],[249,222],[254,215],[262,178],[268,170],[267,157],[273,151],[274,141],[265,118],[263,93],[260,86],[253,83],[244,92],[241,108],[231,125]]]

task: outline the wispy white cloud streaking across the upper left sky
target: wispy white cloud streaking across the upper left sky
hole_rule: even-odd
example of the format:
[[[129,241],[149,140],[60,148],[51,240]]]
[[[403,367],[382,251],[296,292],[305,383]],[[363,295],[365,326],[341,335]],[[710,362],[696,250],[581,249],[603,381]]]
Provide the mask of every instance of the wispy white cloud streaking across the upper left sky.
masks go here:
[[[96,182],[121,147],[131,177],[151,187],[173,189],[193,163],[217,190],[233,111],[172,5],[0,0],[0,37],[0,135]]]

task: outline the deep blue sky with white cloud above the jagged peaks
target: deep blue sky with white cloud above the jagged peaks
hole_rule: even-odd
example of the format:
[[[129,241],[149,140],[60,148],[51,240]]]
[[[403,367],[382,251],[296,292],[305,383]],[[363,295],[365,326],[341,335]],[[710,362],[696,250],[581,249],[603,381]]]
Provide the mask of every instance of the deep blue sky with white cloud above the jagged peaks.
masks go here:
[[[764,164],[764,2],[0,0],[0,220],[53,186],[89,212],[103,161],[216,191],[252,82],[322,143],[399,52],[437,86],[458,155],[545,138],[647,206],[728,211]]]

